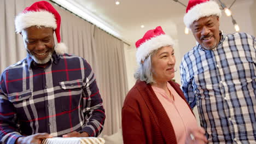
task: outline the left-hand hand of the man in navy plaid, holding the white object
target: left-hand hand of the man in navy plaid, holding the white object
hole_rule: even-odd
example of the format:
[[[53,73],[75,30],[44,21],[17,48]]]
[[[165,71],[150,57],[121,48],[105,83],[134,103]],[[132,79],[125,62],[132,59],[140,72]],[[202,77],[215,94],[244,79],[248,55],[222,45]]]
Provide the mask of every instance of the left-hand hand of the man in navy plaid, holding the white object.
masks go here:
[[[38,133],[30,136],[19,137],[16,144],[41,144],[43,139],[52,138],[48,133]]]

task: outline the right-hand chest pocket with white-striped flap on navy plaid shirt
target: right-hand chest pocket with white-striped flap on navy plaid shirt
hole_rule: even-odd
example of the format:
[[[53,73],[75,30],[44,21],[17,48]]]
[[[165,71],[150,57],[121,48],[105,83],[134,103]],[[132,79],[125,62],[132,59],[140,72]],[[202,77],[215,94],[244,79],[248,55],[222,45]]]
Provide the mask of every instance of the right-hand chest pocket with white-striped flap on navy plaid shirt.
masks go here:
[[[61,107],[62,111],[72,111],[80,106],[83,80],[72,80],[59,82],[62,89]]]

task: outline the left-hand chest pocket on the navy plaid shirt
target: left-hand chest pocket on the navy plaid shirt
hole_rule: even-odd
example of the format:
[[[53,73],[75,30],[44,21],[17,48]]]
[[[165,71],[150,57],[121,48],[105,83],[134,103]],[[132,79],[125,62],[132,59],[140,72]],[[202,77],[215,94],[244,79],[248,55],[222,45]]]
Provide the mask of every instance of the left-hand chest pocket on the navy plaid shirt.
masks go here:
[[[11,93],[8,95],[9,101],[13,103],[16,109],[16,113],[22,121],[29,120],[25,115],[25,110],[30,109],[30,100],[33,99],[32,96],[33,92],[30,89],[22,92]]]

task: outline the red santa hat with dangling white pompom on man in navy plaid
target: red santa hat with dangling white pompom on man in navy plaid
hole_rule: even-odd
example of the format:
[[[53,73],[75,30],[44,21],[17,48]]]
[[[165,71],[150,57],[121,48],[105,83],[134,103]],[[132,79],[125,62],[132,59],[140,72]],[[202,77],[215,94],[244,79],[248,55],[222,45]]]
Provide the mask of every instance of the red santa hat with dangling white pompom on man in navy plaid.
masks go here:
[[[46,1],[33,3],[15,18],[16,33],[20,33],[23,29],[31,26],[53,28],[58,43],[54,49],[56,53],[63,54],[66,52],[67,48],[65,44],[61,43],[60,24],[60,14],[53,7],[53,5]]]

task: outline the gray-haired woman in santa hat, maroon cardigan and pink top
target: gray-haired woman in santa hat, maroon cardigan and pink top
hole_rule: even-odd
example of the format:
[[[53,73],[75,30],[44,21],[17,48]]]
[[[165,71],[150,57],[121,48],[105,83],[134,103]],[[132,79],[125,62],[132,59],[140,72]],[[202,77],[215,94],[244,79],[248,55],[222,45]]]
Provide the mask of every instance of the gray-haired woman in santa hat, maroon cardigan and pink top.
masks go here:
[[[124,143],[206,143],[174,77],[174,42],[156,27],[136,43],[135,86],[122,110]]]

